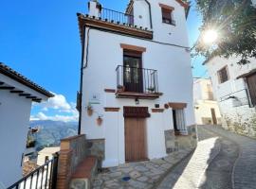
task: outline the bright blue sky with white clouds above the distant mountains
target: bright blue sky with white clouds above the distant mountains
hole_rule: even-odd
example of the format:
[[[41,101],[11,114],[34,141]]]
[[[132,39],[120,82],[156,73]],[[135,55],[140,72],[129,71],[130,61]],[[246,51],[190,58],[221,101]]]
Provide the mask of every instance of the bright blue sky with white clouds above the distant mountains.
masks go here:
[[[105,8],[123,11],[128,0],[100,0]],[[118,2],[118,3],[117,3]],[[79,89],[81,43],[77,12],[87,0],[1,0],[0,61],[57,94],[33,106],[32,117],[72,121]],[[194,2],[188,18],[190,43],[199,35],[200,14]],[[202,59],[192,60],[194,77],[206,77]]]

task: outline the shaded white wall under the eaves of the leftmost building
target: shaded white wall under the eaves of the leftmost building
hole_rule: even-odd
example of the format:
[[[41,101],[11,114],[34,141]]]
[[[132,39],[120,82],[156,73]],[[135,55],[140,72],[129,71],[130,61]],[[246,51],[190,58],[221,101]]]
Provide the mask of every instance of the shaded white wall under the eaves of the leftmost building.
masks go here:
[[[0,90],[0,182],[7,187],[22,178],[31,100]]]

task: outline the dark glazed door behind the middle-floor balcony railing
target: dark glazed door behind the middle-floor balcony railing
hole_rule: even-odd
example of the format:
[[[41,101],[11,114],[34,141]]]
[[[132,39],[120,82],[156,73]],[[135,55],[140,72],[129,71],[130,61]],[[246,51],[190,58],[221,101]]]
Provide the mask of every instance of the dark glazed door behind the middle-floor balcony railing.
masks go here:
[[[123,85],[125,92],[143,93],[142,54],[140,52],[124,50]]]

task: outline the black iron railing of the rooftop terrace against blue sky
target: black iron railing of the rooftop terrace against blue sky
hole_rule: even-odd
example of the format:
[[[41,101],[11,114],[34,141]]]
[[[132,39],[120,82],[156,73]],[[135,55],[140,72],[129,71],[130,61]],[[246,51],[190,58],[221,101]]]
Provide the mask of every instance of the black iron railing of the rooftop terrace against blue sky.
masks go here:
[[[131,14],[125,14],[113,9],[101,8],[101,20],[106,20],[112,23],[118,23],[121,25],[134,26],[134,16]]]

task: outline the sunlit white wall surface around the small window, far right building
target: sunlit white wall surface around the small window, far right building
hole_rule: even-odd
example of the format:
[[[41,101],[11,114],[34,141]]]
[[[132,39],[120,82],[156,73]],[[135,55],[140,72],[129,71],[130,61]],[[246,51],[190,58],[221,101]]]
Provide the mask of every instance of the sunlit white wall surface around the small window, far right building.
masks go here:
[[[245,89],[247,89],[247,83],[243,78],[237,79],[237,77],[255,69],[256,60],[251,59],[251,63],[247,65],[237,64],[236,62],[239,60],[240,58],[236,57],[229,59],[215,57],[206,66],[211,77],[213,93],[217,97],[223,116],[223,126],[227,129],[235,129],[237,132],[247,134],[248,136],[256,136],[256,132],[252,129],[253,124],[251,124],[252,117],[255,116],[255,108],[249,108],[246,105],[247,94]],[[217,72],[226,65],[229,68],[229,80],[220,84]],[[237,96],[241,100],[227,99],[225,96],[229,94]],[[243,130],[240,127],[234,127],[234,125],[240,125]]]

